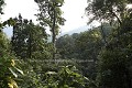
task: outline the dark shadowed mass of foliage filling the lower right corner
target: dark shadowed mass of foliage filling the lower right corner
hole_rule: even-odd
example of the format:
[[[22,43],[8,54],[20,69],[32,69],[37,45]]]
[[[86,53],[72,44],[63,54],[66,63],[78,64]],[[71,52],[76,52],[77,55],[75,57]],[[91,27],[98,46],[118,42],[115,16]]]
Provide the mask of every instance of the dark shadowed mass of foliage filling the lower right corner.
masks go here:
[[[118,30],[120,34],[112,36],[100,53],[99,84],[102,87],[130,88],[132,86],[132,32],[131,28]]]

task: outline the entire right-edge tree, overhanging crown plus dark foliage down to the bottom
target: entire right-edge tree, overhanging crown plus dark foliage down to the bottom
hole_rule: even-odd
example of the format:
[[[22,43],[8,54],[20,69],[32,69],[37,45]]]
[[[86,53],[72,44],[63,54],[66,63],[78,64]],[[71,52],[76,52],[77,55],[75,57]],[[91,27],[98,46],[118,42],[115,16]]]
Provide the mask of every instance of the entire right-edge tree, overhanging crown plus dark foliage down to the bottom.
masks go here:
[[[99,87],[131,88],[131,23],[132,13],[130,0],[90,0],[87,12],[92,13],[92,20],[118,22],[108,44],[100,53]],[[91,21],[92,21],[91,20]]]

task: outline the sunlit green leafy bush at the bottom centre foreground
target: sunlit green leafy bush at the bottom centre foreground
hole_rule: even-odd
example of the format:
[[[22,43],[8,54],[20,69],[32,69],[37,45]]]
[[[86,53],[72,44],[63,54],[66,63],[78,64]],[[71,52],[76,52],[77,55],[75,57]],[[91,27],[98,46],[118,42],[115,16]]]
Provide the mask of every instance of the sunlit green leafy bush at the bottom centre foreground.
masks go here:
[[[45,74],[45,88],[87,88],[88,78],[77,73],[75,66],[62,66],[59,70]]]

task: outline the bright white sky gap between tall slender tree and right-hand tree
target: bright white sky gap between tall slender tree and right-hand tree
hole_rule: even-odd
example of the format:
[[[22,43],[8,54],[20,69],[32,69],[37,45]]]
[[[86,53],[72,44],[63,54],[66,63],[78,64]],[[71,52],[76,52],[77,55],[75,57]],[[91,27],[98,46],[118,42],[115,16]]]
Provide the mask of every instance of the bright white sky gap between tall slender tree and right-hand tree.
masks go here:
[[[81,18],[85,15],[86,7],[87,0],[65,0],[65,4],[62,10],[64,11],[64,18],[67,21],[62,28],[63,32],[86,25],[87,19]]]

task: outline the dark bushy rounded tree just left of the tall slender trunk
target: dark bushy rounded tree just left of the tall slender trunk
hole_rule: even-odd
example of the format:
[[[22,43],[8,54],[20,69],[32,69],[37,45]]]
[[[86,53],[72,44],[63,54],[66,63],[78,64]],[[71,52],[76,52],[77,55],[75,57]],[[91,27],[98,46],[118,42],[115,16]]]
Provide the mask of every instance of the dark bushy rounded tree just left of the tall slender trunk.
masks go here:
[[[16,56],[31,58],[32,56],[37,56],[34,54],[47,51],[45,47],[47,38],[45,29],[35,25],[31,20],[22,19],[21,15],[15,21],[11,44],[12,51],[15,52]]]

